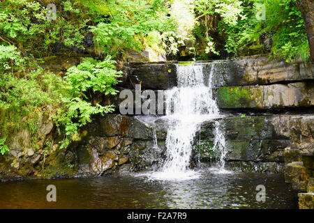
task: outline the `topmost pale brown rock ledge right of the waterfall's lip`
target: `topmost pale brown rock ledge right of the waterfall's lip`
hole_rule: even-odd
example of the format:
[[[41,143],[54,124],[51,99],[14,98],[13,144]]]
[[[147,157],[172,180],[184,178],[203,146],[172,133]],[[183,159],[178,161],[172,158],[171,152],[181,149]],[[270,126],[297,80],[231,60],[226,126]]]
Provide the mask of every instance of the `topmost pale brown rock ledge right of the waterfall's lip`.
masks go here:
[[[208,82],[212,63],[203,63],[205,83]],[[313,79],[311,63],[287,63],[283,59],[269,60],[268,56],[244,56],[214,64],[214,86],[244,86],[296,82]]]

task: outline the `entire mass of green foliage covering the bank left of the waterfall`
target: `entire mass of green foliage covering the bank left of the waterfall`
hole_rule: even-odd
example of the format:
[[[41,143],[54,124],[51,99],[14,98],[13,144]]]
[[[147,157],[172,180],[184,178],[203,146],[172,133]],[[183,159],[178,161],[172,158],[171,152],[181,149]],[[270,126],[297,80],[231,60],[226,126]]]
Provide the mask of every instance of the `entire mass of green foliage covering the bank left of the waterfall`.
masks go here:
[[[112,58],[127,50],[162,49],[163,33],[175,31],[167,3],[154,1],[56,0],[57,19],[47,20],[44,1],[5,0],[0,8],[0,120],[5,137],[10,130],[29,128],[35,137],[36,118],[50,111],[67,146],[93,114],[112,112],[112,106],[94,105],[92,93],[116,94],[121,72]],[[84,49],[93,33],[94,52],[64,77],[40,67],[43,56],[63,50]],[[99,59],[102,59],[99,61]],[[23,120],[23,121],[22,121]],[[27,120],[27,121],[25,121]],[[12,133],[12,132],[11,132]]]

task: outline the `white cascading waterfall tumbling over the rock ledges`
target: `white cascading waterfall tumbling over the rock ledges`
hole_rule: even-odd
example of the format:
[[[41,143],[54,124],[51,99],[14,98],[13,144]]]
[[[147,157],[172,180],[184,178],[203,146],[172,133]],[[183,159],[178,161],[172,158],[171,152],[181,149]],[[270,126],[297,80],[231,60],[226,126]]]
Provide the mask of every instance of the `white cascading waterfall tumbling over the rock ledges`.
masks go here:
[[[212,95],[212,77],[215,63],[211,66],[209,83],[204,83],[202,65],[177,66],[178,87],[165,92],[166,116],[170,121],[167,130],[167,158],[160,171],[150,175],[155,179],[186,180],[197,178],[199,173],[188,168],[192,144],[200,124],[220,117]],[[215,128],[214,149],[220,151],[220,170],[225,165],[225,138],[218,121]]]

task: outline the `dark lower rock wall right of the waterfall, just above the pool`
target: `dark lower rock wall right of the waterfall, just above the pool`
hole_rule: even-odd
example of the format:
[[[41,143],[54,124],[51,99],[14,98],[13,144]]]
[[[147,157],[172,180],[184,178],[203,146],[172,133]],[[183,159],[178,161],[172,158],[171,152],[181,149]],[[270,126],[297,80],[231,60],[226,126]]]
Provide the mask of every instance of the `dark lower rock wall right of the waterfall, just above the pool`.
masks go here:
[[[302,154],[313,153],[311,114],[230,116],[220,122],[225,130],[225,160],[231,169],[283,172],[284,162],[301,161]],[[195,145],[206,145],[211,150],[214,128],[214,121],[202,123]],[[287,149],[289,146],[293,149]],[[208,160],[209,155],[202,154],[202,160]]]

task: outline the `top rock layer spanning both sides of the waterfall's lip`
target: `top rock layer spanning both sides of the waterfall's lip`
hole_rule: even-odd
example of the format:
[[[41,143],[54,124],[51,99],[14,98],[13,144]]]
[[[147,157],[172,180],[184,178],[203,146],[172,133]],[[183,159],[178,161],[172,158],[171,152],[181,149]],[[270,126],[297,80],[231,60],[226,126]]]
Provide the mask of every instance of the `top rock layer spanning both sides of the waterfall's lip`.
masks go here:
[[[205,80],[208,82],[211,67],[214,86],[255,86],[256,84],[276,84],[281,82],[304,82],[313,80],[314,65],[297,61],[287,63],[282,59],[269,61],[264,56],[244,56],[225,61],[195,62],[133,62],[125,67],[125,77],[120,84],[134,89],[142,82],[142,89],[169,89],[177,86],[177,64],[202,64]]]

